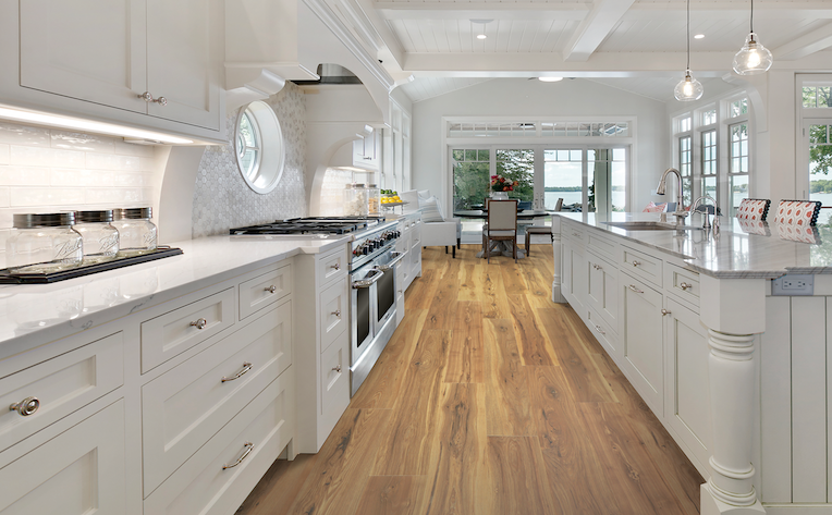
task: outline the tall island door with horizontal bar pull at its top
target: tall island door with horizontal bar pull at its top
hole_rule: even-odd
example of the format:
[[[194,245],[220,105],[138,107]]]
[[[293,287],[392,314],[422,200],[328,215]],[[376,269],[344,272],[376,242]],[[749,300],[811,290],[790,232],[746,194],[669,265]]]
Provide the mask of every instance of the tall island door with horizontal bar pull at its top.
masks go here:
[[[621,368],[653,413],[663,416],[662,294],[626,273],[620,275],[623,292],[624,359]]]

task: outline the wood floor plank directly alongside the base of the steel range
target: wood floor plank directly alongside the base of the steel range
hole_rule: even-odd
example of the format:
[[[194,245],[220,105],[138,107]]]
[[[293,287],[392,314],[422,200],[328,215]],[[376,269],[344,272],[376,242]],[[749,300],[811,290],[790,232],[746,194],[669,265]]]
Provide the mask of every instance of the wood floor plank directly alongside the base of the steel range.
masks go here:
[[[376,366],[350,402],[350,407],[390,409],[395,405],[426,317],[425,309],[406,311]]]

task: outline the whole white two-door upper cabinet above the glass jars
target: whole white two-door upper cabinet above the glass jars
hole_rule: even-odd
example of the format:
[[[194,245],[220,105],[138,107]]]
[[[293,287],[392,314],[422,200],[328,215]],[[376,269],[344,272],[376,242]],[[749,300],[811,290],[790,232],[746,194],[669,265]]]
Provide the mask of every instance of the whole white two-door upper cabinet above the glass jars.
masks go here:
[[[224,139],[222,12],[219,0],[3,2],[1,65],[20,75],[3,74],[0,97],[24,108]]]

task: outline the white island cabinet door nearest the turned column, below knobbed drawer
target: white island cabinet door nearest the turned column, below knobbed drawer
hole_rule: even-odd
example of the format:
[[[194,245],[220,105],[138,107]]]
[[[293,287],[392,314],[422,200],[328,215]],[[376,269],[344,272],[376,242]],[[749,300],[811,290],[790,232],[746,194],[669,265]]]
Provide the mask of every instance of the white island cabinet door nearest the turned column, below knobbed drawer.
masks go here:
[[[666,310],[668,420],[705,466],[711,454],[708,332],[699,323],[699,315],[678,302],[668,298]]]

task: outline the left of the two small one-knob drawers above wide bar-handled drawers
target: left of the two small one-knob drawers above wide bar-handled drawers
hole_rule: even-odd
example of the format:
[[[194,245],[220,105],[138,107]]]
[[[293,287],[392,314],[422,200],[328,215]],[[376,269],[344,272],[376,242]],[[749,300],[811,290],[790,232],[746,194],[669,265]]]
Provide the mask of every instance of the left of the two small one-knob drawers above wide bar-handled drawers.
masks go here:
[[[142,373],[233,326],[233,304],[230,287],[142,322]]]

